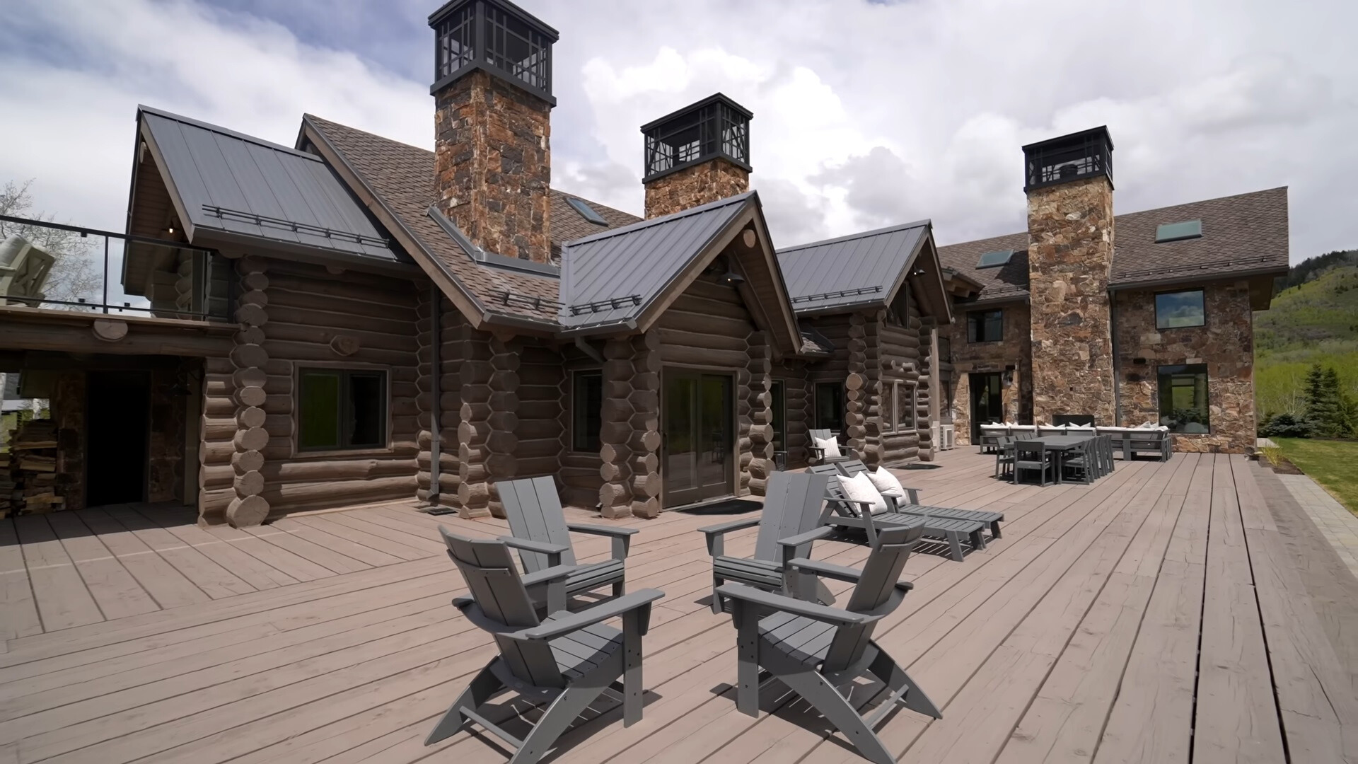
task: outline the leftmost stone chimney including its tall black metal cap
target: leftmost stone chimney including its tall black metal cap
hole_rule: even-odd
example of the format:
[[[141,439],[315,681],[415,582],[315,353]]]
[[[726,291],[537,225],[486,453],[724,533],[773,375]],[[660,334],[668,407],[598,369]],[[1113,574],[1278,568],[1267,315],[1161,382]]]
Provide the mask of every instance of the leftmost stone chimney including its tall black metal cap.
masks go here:
[[[481,249],[547,262],[557,30],[508,0],[454,0],[429,26],[436,204]]]

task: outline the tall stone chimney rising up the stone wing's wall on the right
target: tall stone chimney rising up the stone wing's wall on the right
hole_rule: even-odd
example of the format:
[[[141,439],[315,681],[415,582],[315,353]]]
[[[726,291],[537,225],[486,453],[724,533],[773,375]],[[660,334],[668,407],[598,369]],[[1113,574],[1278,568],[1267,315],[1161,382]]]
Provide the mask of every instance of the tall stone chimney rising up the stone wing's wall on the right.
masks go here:
[[[1023,148],[1028,194],[1032,411],[1112,426],[1112,139],[1093,128]]]

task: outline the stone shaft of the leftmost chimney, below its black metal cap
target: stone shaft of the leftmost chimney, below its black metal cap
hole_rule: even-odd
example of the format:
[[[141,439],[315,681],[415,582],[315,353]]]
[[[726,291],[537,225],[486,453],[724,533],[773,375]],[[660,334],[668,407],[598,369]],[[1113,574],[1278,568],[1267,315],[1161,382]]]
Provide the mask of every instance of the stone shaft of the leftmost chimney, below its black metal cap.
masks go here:
[[[535,262],[551,254],[551,105],[486,72],[435,94],[439,209],[475,245]]]

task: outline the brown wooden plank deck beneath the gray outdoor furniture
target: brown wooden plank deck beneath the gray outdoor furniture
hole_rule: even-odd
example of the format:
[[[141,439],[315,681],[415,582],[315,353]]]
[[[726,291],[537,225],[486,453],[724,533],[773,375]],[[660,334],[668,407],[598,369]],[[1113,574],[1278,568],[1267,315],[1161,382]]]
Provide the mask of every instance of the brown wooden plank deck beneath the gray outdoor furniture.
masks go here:
[[[940,464],[899,474],[923,487],[928,503],[1002,510],[1006,522],[1004,538],[966,561],[934,551],[911,556],[906,576],[915,589],[877,629],[944,712],[930,720],[899,711],[879,727],[902,761],[1358,761],[1355,667],[1338,658],[1358,654],[1358,582],[1334,566],[1347,579],[1313,594],[1317,574],[1302,551],[1327,546],[1301,538],[1313,527],[1275,522],[1258,466],[1179,454],[1167,464],[1119,462],[1089,487],[1036,488],[993,480],[993,462],[970,450],[945,453]],[[265,589],[266,570],[287,568],[247,540],[206,545],[168,518],[145,517],[156,538],[129,527],[141,522],[134,518],[109,514],[121,529],[96,527],[103,518],[72,519],[86,533],[65,534],[58,526],[68,521],[53,519],[53,545],[20,522],[7,527],[19,546],[14,536],[0,545],[4,625],[19,633],[0,653],[0,761],[508,759],[486,735],[422,746],[493,654],[485,633],[448,606],[462,580],[436,553],[435,527],[498,536],[502,521],[388,506],[277,523],[251,538],[327,575],[312,568],[316,575],[300,580],[289,572],[296,583]],[[735,711],[735,629],[706,606],[710,563],[694,532],[722,519],[671,513],[630,522],[641,533],[629,587],[667,593],[645,640],[645,718],[623,727],[621,708],[600,704],[550,760],[860,761],[796,697],[766,692],[759,719]],[[280,530],[335,556],[268,536]],[[247,586],[209,591],[230,579],[206,579],[177,561],[159,532]],[[133,556],[114,538],[145,549]],[[754,533],[743,532],[727,549],[752,545]],[[410,559],[360,546],[390,557],[405,549]],[[253,580],[232,564],[243,557],[225,549],[254,560]],[[602,559],[608,541],[581,536],[576,549]],[[823,542],[815,556],[856,566],[865,552]],[[62,556],[64,580],[39,585],[57,575],[43,571],[62,570]],[[167,604],[153,590],[156,574],[139,571],[139,557],[162,560],[158,570],[190,582],[200,601],[159,609]],[[341,557],[361,570],[337,571]],[[33,570],[27,595],[24,561]],[[61,591],[87,600],[64,608]],[[155,608],[141,601],[147,612],[120,612],[110,604],[124,593],[149,597]],[[41,621],[11,623],[26,597],[30,608],[37,598]],[[84,625],[69,614],[77,610],[90,619]],[[49,623],[49,612],[67,620]],[[535,711],[504,708],[515,712]]]

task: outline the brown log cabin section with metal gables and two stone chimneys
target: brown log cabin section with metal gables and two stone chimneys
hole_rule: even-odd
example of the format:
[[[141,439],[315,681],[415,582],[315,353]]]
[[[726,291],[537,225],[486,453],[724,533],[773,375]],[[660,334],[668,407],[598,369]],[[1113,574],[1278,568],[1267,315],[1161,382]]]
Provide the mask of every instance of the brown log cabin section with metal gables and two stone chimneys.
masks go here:
[[[930,458],[967,394],[953,303],[990,295],[928,220],[775,250],[754,116],[720,92],[641,126],[644,219],[562,193],[557,33],[505,0],[429,24],[433,152],[311,114],[280,145],[139,107],[105,241],[145,315],[0,306],[67,508],[249,526],[417,496],[483,517],[497,480],[547,474],[606,518],[656,517],[760,493],[811,428],[869,465]]]

